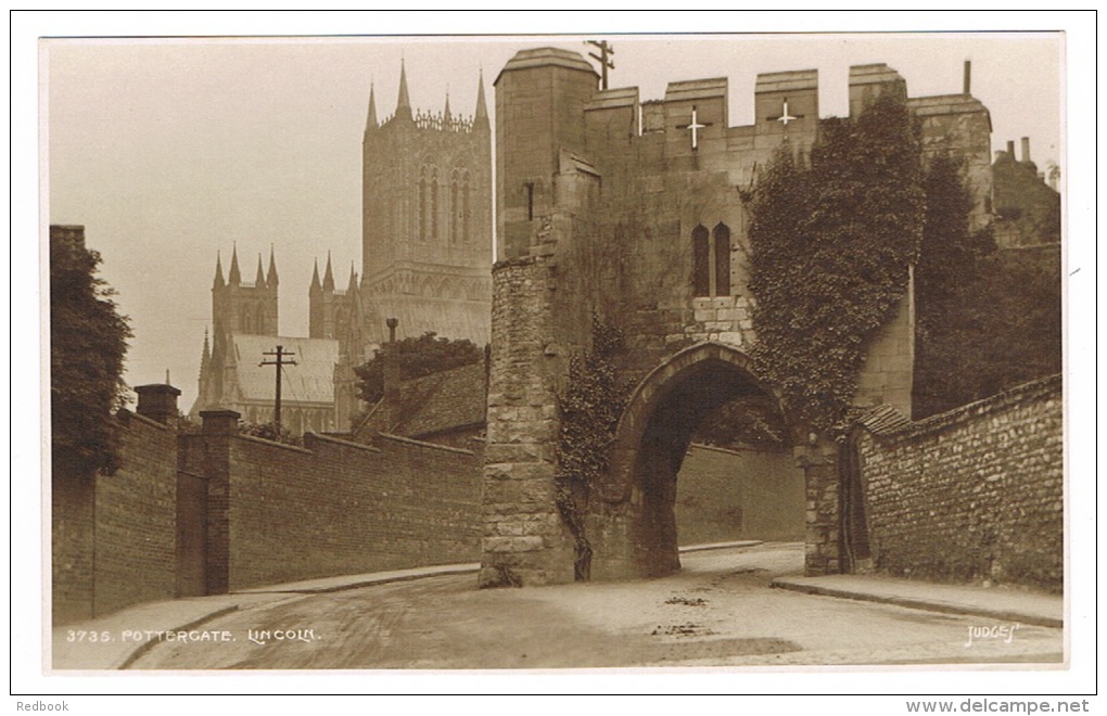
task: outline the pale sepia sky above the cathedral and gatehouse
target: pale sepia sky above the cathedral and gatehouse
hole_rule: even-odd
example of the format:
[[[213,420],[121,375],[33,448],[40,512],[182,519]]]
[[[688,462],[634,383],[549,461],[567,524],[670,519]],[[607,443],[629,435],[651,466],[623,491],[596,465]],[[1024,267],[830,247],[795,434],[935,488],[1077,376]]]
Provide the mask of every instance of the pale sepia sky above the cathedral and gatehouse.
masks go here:
[[[135,338],[130,385],[196,394],[217,253],[246,280],[272,249],[280,331],[307,335],[313,261],[344,284],[360,272],[361,135],[370,87],[381,118],[400,66],[412,103],[472,115],[482,74],[551,44],[587,54],[593,35],[497,38],[50,39],[42,43],[50,224],[85,227]],[[886,62],[911,96],[956,94],[965,60],[990,108],[993,148],[1031,139],[1062,166],[1059,33],[618,35],[612,87],[660,98],[668,82],[725,76],[733,126],[753,122],[762,72],[817,69],[820,114],[848,113],[848,69]],[[489,257],[489,261],[490,261]],[[322,269],[322,266],[320,267]]]

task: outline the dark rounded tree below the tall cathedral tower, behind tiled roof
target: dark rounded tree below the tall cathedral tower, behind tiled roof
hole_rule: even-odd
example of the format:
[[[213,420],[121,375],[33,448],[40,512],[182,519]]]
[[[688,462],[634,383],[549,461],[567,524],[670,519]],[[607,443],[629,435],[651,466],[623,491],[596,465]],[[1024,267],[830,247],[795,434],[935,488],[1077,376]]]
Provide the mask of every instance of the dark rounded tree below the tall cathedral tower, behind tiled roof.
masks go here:
[[[386,343],[376,350],[373,360],[354,369],[358,395],[370,405],[384,396],[384,356],[390,351],[397,356],[400,377],[404,381],[479,363],[484,359],[484,351],[473,341],[438,338],[433,331]]]

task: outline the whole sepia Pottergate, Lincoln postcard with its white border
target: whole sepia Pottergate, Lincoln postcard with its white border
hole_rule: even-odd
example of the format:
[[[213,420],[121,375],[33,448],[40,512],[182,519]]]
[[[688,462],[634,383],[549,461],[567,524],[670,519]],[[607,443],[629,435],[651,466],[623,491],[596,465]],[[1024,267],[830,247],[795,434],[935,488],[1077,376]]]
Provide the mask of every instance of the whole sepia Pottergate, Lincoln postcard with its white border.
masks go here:
[[[1082,710],[1062,25],[92,14],[29,40],[29,694]]]

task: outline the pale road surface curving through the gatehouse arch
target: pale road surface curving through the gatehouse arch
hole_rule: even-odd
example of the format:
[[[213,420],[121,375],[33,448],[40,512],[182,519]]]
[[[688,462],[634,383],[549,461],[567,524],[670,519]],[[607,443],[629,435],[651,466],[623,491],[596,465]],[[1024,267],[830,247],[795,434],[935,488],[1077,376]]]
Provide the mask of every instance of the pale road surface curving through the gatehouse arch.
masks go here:
[[[682,556],[682,562],[679,574],[620,583],[477,590],[472,575],[453,575],[327,594],[273,594],[203,627],[229,633],[234,641],[162,642],[131,667],[445,670],[1062,661],[1058,629],[1022,625],[1001,632],[1000,627],[1013,625],[770,589],[774,577],[800,571],[801,544],[694,552]],[[975,636],[969,644],[971,632]]]

